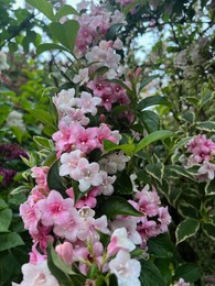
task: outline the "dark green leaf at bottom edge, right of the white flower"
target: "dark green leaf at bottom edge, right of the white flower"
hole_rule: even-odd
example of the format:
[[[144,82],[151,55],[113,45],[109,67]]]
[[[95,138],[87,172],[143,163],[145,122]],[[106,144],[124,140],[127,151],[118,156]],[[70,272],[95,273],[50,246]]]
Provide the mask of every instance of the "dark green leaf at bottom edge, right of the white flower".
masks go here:
[[[140,283],[142,286],[164,286],[160,271],[151,261],[141,260]]]

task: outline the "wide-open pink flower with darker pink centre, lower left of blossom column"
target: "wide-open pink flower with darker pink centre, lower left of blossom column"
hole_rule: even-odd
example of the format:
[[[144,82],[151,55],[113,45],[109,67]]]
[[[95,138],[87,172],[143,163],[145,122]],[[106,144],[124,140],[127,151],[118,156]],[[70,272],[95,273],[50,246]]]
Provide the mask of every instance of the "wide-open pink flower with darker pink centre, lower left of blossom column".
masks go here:
[[[45,227],[54,224],[64,224],[69,220],[69,209],[74,206],[71,198],[63,199],[56,190],[51,190],[46,199],[36,204],[41,211],[41,221]]]

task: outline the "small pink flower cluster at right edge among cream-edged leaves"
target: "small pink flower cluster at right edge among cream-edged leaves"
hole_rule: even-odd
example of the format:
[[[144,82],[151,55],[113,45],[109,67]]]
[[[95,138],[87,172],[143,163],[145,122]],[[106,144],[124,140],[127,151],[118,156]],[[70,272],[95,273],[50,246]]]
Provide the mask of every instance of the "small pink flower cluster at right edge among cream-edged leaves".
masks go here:
[[[198,168],[198,180],[212,180],[215,177],[215,143],[205,134],[194,136],[187,144],[187,152],[192,153],[187,158],[186,166],[201,165]]]

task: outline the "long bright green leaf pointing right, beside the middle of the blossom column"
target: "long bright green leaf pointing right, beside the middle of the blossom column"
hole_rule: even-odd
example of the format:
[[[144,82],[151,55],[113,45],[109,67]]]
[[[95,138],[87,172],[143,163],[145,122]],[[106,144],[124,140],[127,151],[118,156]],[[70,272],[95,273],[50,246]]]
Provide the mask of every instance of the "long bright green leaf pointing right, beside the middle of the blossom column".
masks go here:
[[[159,130],[159,131],[154,131],[153,133],[150,133],[148,135],[146,135],[137,145],[137,147],[135,148],[135,154],[138,153],[141,148],[147,147],[148,145],[150,145],[151,143],[165,139],[165,138],[171,138],[171,136],[175,136],[175,134],[172,131],[169,130]]]

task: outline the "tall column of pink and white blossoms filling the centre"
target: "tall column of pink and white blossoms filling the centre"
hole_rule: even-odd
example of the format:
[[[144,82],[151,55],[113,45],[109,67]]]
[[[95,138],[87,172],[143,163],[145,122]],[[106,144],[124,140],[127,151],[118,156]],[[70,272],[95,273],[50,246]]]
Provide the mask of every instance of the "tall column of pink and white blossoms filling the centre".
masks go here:
[[[57,176],[64,190],[50,186],[54,164],[31,169],[35,187],[21,205],[20,215],[33,248],[30,263],[22,267],[21,285],[30,280],[32,285],[58,285],[47,268],[49,242],[62,261],[74,271],[78,268],[85,278],[96,265],[99,275],[115,274],[118,285],[140,285],[141,264],[131,252],[136,248],[146,252],[147,241],[166,232],[171,218],[168,208],[161,207],[155,189],[149,186],[121,198],[133,215],[120,210],[109,218],[103,212],[103,204],[115,196],[115,183],[130,160],[122,151],[104,150],[105,140],[118,145],[122,139],[104,112],[108,114],[115,106],[129,106],[130,99],[125,88],[112,82],[126,78],[118,54],[122,42],[100,37],[111,24],[125,20],[119,11],[106,12],[103,6],[92,6],[92,12],[77,20],[80,29],[76,53],[83,57],[72,80],[78,88],[63,89],[53,98],[58,113],[58,130],[52,135],[54,164],[58,164]],[[97,73],[104,67],[104,73]],[[133,120],[128,111],[123,116],[129,122]]]

